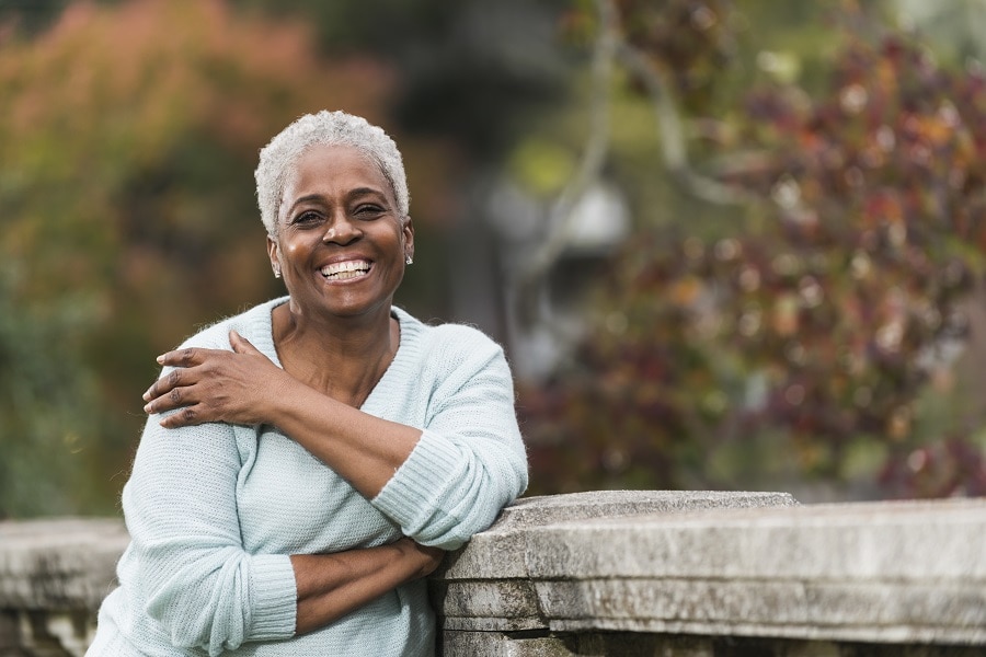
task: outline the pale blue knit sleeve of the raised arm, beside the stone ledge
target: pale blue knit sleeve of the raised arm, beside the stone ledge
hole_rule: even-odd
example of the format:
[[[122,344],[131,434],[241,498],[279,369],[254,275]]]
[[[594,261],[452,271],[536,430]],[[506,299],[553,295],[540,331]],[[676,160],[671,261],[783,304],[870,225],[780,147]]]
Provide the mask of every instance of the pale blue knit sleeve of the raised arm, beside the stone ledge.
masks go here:
[[[482,336],[438,385],[406,461],[372,499],[405,535],[455,550],[527,488],[514,384],[498,345]]]

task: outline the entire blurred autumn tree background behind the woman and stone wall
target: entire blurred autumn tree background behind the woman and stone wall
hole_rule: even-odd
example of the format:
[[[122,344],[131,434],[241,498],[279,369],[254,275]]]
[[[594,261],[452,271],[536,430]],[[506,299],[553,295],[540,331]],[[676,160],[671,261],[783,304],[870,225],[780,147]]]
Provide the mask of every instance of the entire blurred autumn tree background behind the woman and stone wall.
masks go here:
[[[0,518],[118,512],[154,356],[283,293],[259,149],[394,136],[397,302],[530,494],[986,493],[984,0],[0,0]],[[194,458],[194,454],[190,454]]]

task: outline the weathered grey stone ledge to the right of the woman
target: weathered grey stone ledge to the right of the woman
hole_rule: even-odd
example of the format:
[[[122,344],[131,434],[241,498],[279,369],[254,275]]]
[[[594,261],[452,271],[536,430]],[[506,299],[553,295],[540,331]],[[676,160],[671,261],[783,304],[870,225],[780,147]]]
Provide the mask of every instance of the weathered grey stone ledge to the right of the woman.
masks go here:
[[[439,574],[434,591],[447,634],[627,632],[984,646],[984,535],[982,499],[679,508],[494,527],[477,537],[494,541],[483,552],[512,545],[523,568],[503,568],[509,575],[496,577],[500,563],[470,560],[463,568],[462,555]]]

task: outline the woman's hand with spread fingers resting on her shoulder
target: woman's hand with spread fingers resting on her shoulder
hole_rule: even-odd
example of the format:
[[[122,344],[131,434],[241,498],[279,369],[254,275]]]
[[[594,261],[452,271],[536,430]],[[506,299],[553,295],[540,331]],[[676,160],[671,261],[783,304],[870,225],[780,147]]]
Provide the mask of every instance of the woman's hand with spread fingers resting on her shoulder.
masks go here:
[[[161,420],[173,429],[207,422],[263,424],[271,400],[282,394],[290,376],[236,331],[232,351],[191,347],[168,351],[158,362],[175,369],[144,393],[145,413],[181,408]]]

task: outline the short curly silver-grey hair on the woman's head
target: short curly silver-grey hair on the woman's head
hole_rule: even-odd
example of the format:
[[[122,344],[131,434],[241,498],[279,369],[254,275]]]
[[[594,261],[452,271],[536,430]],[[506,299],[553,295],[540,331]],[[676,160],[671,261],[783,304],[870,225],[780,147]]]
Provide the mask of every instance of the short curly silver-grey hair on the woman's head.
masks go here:
[[[294,173],[298,158],[312,146],[351,146],[358,149],[380,168],[393,189],[401,218],[408,217],[411,196],[401,152],[393,139],[360,116],[322,110],[318,114],[300,117],[261,149],[254,177],[256,203],[267,234],[277,234],[277,214],[284,187]]]

